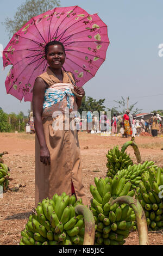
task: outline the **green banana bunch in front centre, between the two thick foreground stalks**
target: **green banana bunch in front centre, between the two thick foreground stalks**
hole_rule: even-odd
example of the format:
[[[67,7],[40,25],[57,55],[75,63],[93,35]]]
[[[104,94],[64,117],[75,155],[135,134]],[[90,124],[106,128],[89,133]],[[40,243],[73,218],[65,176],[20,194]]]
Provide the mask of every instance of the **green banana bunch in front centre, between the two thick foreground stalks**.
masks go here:
[[[113,179],[95,178],[96,187],[91,185],[93,196],[90,210],[95,218],[95,245],[123,245],[129,230],[135,229],[135,214],[129,205],[110,204],[120,196],[134,196],[130,191],[131,182],[116,174]]]

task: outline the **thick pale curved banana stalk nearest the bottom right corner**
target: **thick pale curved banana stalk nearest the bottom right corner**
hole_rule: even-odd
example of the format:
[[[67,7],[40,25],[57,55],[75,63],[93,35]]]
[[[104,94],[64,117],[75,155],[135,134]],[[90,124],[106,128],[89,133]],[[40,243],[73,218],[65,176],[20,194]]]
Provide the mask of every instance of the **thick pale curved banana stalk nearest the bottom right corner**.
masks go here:
[[[139,201],[134,199],[133,197],[122,196],[116,198],[115,200],[110,200],[109,203],[113,205],[116,202],[120,204],[129,204],[129,206],[133,208],[139,233],[139,245],[149,245],[146,216]]]

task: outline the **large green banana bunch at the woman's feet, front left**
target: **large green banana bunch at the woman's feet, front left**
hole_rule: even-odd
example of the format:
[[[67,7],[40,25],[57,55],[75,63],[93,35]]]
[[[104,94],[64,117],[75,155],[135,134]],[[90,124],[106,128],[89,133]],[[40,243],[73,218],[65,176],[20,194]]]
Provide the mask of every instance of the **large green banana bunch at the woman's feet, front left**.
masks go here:
[[[74,210],[78,204],[82,199],[76,200],[65,192],[43,199],[21,231],[20,245],[83,245],[83,216]]]

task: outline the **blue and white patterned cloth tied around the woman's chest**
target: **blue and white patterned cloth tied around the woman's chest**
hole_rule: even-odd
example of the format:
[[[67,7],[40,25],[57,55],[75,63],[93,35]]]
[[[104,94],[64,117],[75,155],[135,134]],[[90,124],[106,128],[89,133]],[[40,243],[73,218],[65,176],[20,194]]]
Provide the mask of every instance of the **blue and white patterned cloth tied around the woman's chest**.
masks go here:
[[[46,107],[51,107],[54,104],[62,101],[64,97],[67,95],[67,107],[71,106],[71,97],[74,96],[74,94],[71,92],[70,88],[66,88],[65,90],[58,90],[54,88],[48,88],[45,90],[45,96],[43,101],[43,109]]]

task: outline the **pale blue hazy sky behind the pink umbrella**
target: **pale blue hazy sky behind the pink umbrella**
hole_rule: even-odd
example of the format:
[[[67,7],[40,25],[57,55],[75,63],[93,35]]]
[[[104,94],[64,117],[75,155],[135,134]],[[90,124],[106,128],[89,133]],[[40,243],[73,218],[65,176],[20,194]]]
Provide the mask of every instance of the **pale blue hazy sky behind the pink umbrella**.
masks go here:
[[[14,17],[23,0],[0,3],[0,44],[9,42],[8,32],[1,24],[6,17]],[[6,4],[7,3],[7,4]],[[121,96],[129,105],[135,103],[149,113],[163,109],[163,1],[160,0],[61,0],[61,7],[79,5],[89,14],[98,13],[108,26],[110,45],[105,62],[96,76],[84,85],[86,96],[105,99],[104,106],[112,108]],[[28,114],[30,102],[20,102],[6,93],[5,78],[9,67],[3,70],[0,57],[0,107],[6,113],[22,111]]]

